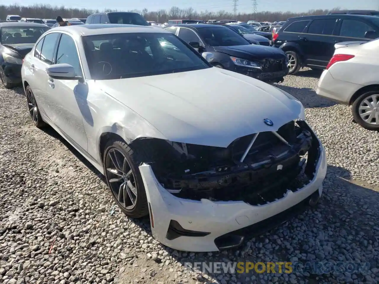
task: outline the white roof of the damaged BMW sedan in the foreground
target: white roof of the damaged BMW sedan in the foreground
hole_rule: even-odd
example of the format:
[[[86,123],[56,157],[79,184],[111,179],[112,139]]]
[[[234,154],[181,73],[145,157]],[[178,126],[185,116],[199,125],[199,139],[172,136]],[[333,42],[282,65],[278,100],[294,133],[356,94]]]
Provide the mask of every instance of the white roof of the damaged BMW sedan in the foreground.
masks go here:
[[[41,24],[42,25],[42,24]],[[51,31],[65,31],[75,36],[94,36],[97,34],[118,34],[118,33],[171,33],[164,29],[152,26],[123,25],[123,24],[84,24],[66,27],[56,27]]]

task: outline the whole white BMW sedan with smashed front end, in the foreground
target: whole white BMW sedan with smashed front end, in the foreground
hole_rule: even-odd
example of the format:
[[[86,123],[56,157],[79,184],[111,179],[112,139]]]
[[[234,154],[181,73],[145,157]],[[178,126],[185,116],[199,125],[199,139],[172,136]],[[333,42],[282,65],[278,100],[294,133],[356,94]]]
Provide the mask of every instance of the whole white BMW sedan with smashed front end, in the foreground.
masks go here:
[[[47,31],[22,66],[34,124],[177,250],[240,245],[316,204],[326,175],[302,104],[211,59],[163,29],[101,24]]]

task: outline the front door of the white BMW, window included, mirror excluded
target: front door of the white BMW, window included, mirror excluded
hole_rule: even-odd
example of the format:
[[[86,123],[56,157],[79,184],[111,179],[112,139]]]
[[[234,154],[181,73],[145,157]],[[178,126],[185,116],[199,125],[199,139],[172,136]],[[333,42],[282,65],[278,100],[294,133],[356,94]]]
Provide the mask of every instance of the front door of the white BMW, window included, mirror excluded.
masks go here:
[[[55,54],[55,64],[70,64],[75,76],[83,77],[77,47],[68,34],[61,34]],[[55,106],[51,119],[70,140],[88,150],[87,136],[83,125],[88,87],[79,80],[58,80],[49,77],[47,94]],[[88,106],[87,106],[88,108]]]

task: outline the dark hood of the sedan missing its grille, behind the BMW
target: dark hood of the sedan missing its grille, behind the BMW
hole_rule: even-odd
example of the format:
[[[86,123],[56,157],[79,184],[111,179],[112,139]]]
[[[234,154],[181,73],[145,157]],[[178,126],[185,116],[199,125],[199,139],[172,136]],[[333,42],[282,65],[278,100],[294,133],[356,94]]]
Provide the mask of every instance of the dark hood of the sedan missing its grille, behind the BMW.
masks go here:
[[[263,45],[236,45],[236,46],[215,46],[215,51],[226,53],[230,56],[243,58],[246,60],[262,60],[265,58],[284,59],[286,55],[279,48]]]

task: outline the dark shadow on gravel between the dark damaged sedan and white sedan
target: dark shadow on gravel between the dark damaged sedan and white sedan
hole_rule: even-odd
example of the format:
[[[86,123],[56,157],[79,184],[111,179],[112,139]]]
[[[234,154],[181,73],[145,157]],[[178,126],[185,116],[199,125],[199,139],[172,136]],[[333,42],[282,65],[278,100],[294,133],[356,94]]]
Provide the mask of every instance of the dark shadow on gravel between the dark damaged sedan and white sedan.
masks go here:
[[[306,71],[304,71],[306,72]],[[293,95],[303,104],[304,108],[327,108],[329,106],[337,105],[334,101],[320,97],[311,88],[296,88],[275,84],[274,86],[282,89],[283,91]]]

